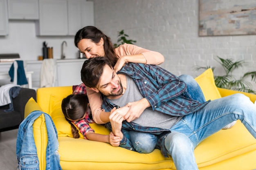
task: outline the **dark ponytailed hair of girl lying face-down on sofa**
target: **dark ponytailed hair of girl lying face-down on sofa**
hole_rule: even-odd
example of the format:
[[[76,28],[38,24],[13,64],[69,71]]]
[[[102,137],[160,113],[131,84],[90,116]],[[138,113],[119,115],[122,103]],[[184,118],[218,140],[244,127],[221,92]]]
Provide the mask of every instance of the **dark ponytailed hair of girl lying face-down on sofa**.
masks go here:
[[[86,94],[70,94],[62,100],[61,109],[65,119],[71,125],[74,138],[79,138],[80,135],[79,131],[76,129],[76,126],[74,126],[70,120],[78,120],[83,118],[84,114],[88,110],[88,103],[89,100]]]

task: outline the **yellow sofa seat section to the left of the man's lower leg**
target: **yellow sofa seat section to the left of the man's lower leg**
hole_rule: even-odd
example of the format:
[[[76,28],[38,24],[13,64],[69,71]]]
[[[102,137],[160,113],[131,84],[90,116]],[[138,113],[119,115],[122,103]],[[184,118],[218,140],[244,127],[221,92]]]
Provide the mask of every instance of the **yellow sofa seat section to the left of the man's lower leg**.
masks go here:
[[[59,137],[60,164],[66,170],[153,170],[173,166],[161,151],[137,153],[103,142]]]

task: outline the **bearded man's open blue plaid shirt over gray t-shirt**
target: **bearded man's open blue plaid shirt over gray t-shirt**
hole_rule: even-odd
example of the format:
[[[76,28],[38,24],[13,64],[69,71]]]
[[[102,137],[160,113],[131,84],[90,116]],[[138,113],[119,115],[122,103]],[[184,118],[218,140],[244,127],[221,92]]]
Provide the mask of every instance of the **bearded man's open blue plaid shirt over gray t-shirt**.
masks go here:
[[[179,77],[156,65],[128,63],[118,72],[118,74],[130,76],[139,88],[141,95],[148,100],[152,109],[162,113],[172,116],[185,116],[200,110],[210,102],[209,100],[200,103],[191,99],[187,92],[186,83]],[[110,102],[110,100],[104,96],[102,107],[105,111],[111,111],[113,107],[118,108],[119,106]],[[110,123],[108,123],[107,127],[111,130]],[[143,127],[133,122],[128,123],[124,121],[122,125],[124,138],[120,142],[120,146],[129,150],[135,149],[132,147],[129,140],[130,137],[127,130],[144,131],[159,135],[156,148],[161,149],[162,154],[167,156],[164,147],[164,138],[166,137],[166,134],[170,133],[169,130]]]

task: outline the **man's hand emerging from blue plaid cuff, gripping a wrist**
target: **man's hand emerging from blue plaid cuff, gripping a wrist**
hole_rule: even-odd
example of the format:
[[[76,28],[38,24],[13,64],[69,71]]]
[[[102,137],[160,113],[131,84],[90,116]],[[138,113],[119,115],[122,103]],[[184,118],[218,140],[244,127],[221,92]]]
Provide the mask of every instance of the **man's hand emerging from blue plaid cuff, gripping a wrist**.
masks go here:
[[[141,113],[147,108],[150,107],[150,103],[146,98],[143,98],[136,102],[129,102],[126,107],[130,107],[126,115],[124,116],[124,120],[127,122],[131,122],[139,118]]]

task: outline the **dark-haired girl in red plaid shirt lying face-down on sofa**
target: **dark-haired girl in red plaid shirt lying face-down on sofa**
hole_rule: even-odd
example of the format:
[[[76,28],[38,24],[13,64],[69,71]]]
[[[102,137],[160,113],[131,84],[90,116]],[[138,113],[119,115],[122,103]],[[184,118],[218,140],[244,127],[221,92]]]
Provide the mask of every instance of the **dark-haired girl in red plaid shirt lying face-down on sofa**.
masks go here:
[[[101,135],[94,133],[89,123],[94,123],[89,107],[88,97],[85,94],[70,94],[62,100],[61,109],[65,119],[71,124],[74,138],[79,138],[79,131],[85,139],[110,143],[112,146],[119,146],[120,137],[112,135]],[[79,131],[76,129],[78,127]]]

